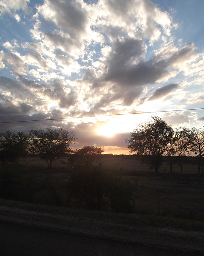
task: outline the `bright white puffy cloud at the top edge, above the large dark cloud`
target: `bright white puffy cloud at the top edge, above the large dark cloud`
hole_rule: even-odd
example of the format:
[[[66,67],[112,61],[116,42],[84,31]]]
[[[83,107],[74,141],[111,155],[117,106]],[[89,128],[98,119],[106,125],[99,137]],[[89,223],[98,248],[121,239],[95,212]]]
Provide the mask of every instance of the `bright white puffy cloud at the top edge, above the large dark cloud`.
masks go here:
[[[165,34],[170,34],[171,17],[149,0],[102,0],[99,4],[103,13],[99,12],[101,18],[98,18],[96,24],[104,30],[110,40],[122,34],[155,41],[162,30]]]

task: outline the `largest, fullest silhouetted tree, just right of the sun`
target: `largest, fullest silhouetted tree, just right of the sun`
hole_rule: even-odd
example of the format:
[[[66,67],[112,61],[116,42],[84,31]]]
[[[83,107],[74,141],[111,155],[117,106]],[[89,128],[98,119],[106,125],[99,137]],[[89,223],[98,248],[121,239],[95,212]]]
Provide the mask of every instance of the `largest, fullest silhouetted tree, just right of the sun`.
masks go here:
[[[138,125],[126,142],[129,143],[127,148],[137,155],[144,155],[145,161],[154,168],[155,172],[159,171],[162,164],[162,156],[167,150],[168,144],[173,138],[173,128],[164,120],[157,116],[152,116],[152,120]]]

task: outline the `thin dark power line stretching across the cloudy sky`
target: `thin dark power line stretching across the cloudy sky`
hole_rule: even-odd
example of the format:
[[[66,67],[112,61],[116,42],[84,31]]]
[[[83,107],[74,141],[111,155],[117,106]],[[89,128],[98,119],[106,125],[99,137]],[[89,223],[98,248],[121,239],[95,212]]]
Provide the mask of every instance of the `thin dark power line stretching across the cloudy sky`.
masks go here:
[[[37,120],[21,120],[21,121],[0,122],[0,124],[22,123],[22,122],[39,122],[39,121],[48,121],[48,120],[65,120],[65,119],[102,117],[102,116],[123,116],[123,115],[135,115],[135,114],[162,113],[162,112],[178,112],[178,111],[202,110],[202,109],[204,109],[204,108],[190,108],[190,109],[180,109],[180,110],[163,110],[163,111],[151,111],[151,112],[135,112],[135,113],[124,113],[124,114],[106,114],[106,115],[95,115],[95,116],[74,116],[74,117],[65,117],[65,118],[50,118],[50,119],[37,119]]]

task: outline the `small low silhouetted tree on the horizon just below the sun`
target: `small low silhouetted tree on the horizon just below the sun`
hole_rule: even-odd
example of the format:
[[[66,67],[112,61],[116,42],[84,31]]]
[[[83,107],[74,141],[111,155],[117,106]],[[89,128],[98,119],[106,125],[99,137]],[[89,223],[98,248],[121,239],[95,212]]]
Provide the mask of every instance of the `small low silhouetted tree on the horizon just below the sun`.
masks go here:
[[[97,146],[84,146],[77,148],[75,154],[83,158],[83,162],[92,166],[93,162],[100,162],[100,156],[104,152],[103,148]]]

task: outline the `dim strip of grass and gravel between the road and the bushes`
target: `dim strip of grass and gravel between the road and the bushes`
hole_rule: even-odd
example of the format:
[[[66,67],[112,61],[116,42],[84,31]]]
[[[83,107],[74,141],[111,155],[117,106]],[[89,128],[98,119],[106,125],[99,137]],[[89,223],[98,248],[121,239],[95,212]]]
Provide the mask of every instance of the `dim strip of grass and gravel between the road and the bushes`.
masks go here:
[[[204,255],[204,232],[135,227],[131,223],[124,224],[120,218],[110,219],[101,214],[90,216],[74,210],[69,213],[61,210],[50,212],[45,209],[0,205],[0,220]]]

